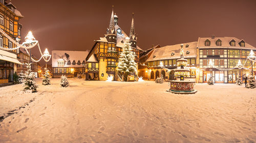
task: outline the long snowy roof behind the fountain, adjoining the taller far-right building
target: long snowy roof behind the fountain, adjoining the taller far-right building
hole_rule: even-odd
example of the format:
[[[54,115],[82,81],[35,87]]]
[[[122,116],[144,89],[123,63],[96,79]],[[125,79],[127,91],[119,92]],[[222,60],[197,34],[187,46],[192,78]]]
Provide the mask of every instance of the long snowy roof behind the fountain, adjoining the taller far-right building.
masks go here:
[[[169,45],[160,48],[155,48],[150,57],[146,60],[157,61],[157,60],[167,60],[167,59],[179,59],[181,44]],[[197,42],[183,43],[184,58],[196,58],[197,56]],[[188,45],[188,47],[186,47]],[[186,52],[189,54],[186,54]],[[174,53],[174,55],[172,55]]]

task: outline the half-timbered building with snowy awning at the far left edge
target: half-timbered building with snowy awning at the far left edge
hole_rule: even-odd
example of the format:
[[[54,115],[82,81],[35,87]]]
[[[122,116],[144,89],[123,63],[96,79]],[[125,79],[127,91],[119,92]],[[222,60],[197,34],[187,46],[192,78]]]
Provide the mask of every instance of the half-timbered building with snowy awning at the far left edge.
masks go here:
[[[19,20],[23,18],[22,14],[11,3],[0,1],[0,28],[8,34],[13,40],[20,39],[22,24]],[[14,48],[16,45],[7,37],[0,34],[0,47]],[[13,73],[16,72],[17,64],[22,64],[17,60],[19,49],[7,51],[0,49],[0,83],[13,81]]]

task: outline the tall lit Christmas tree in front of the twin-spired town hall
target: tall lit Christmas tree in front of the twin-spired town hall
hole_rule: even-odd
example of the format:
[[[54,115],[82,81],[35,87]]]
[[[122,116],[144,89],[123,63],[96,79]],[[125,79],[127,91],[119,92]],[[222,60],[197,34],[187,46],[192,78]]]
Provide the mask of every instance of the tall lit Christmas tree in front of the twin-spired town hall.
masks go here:
[[[128,40],[124,42],[123,51],[120,53],[118,70],[126,77],[127,75],[132,75],[137,70],[135,55],[133,54],[131,43]]]

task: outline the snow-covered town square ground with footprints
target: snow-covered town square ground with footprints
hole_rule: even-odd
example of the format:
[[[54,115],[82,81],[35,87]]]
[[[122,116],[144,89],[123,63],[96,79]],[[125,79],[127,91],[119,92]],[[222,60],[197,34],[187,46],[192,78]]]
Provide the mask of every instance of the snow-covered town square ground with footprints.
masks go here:
[[[256,89],[244,85],[176,95],[167,82],[59,80],[0,88],[0,142],[256,142]]]

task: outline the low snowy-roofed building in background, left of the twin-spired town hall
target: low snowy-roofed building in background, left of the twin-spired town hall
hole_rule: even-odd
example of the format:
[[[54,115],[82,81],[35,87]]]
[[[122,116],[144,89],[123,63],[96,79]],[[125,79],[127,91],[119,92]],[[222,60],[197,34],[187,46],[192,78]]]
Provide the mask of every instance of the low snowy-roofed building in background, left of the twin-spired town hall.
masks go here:
[[[82,77],[86,75],[88,51],[52,50],[52,77]]]

